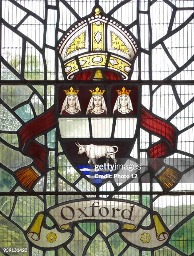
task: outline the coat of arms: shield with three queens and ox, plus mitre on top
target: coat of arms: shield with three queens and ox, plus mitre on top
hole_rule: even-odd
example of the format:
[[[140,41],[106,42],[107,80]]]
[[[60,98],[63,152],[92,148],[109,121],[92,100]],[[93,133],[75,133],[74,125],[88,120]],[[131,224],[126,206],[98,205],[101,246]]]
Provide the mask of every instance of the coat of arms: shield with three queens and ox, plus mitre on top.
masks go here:
[[[66,77],[56,87],[60,143],[81,175],[102,184],[130,157],[137,138],[141,91],[122,85],[131,75],[137,40],[95,7],[60,38],[57,49]]]

